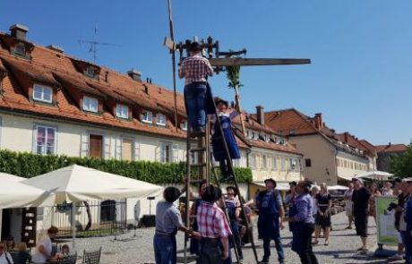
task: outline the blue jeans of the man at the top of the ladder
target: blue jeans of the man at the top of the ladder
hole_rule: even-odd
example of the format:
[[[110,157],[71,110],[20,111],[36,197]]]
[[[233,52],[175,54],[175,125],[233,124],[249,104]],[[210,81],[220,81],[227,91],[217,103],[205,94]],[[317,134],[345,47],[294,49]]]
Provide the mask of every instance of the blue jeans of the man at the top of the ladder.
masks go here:
[[[203,129],[206,123],[206,84],[191,83],[185,86],[185,105],[189,124],[194,131]]]

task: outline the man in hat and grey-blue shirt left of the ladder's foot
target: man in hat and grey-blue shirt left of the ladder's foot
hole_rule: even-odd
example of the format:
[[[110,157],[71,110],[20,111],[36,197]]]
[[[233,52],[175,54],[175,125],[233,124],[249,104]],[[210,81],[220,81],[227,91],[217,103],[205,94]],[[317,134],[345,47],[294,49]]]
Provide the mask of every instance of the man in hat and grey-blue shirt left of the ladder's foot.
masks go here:
[[[179,197],[179,189],[169,186],[163,192],[164,200],[156,206],[156,233],[153,238],[156,264],[176,264],[177,230],[200,238],[199,233],[183,225],[180,211],[173,204]]]

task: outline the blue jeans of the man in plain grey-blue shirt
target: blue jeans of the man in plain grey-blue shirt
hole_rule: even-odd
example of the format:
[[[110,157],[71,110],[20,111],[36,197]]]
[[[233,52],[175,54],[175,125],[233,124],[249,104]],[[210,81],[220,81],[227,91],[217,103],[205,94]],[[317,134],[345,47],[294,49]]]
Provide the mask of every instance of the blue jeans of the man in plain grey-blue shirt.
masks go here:
[[[176,235],[155,234],[153,247],[156,264],[176,264]]]

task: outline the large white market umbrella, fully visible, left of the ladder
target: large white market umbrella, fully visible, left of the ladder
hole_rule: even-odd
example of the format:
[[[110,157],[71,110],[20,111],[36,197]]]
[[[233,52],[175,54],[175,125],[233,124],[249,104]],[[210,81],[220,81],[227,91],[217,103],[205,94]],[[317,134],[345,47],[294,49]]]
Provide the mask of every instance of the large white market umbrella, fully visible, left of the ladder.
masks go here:
[[[143,198],[163,187],[93,168],[72,165],[21,183],[56,193],[56,204],[64,201]]]

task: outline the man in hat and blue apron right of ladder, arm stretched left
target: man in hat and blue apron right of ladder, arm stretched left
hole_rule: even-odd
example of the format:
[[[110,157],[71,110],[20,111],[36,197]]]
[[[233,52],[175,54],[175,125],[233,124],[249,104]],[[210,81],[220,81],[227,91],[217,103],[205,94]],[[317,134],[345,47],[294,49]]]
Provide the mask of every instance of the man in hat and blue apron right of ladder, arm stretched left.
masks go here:
[[[246,205],[256,204],[259,209],[258,217],[258,238],[263,240],[263,258],[260,263],[269,263],[270,258],[270,241],[274,240],[276,250],[278,251],[279,263],[285,263],[285,253],[280,240],[280,229],[283,229],[283,209],[282,197],[276,190],[276,182],[273,179],[264,181],[266,190],[259,192],[253,200],[249,200]]]

